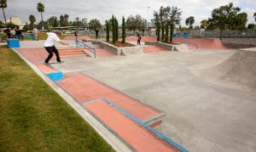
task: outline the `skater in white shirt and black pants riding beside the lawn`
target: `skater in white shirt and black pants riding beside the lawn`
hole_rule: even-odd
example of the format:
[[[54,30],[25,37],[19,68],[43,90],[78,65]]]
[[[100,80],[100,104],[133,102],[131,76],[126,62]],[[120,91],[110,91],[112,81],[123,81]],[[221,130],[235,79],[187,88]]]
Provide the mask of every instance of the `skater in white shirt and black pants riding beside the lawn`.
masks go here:
[[[53,53],[55,53],[57,63],[62,63],[59,55],[59,51],[55,48],[55,42],[60,42],[62,45],[68,45],[67,42],[61,42],[60,38],[53,32],[47,32],[47,39],[44,42],[44,48],[49,53],[48,57],[45,59],[44,63],[49,64],[49,59],[52,58]]]

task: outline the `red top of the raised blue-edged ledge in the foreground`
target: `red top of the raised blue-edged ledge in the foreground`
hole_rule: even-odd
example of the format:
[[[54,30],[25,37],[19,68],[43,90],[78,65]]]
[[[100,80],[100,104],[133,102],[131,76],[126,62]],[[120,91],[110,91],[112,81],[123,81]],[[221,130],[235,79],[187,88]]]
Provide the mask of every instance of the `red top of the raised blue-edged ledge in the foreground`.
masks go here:
[[[103,100],[84,106],[137,151],[179,151]]]

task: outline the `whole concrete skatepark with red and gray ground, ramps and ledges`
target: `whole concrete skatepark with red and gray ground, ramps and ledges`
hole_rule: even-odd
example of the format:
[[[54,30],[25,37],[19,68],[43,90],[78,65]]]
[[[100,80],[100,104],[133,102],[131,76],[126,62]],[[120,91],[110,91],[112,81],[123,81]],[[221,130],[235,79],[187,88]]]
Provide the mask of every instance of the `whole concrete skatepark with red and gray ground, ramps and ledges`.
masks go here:
[[[86,42],[96,50],[94,59],[65,54],[84,48],[74,37],[64,41],[67,47],[56,45],[63,64],[44,65],[44,41],[21,41],[13,49],[117,151],[256,150],[256,48],[194,39],[197,49],[143,42],[136,46],[143,52],[116,55]],[[50,79],[55,72],[63,79]]]

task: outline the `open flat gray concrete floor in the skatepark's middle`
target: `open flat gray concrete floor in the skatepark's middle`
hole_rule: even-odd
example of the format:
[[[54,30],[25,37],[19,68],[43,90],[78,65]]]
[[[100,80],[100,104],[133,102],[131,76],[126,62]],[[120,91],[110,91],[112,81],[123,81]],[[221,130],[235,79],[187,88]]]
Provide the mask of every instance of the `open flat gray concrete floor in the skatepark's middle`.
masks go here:
[[[189,151],[256,151],[256,95],[198,75],[236,50],[66,58],[54,65],[82,72],[165,112],[156,129]]]

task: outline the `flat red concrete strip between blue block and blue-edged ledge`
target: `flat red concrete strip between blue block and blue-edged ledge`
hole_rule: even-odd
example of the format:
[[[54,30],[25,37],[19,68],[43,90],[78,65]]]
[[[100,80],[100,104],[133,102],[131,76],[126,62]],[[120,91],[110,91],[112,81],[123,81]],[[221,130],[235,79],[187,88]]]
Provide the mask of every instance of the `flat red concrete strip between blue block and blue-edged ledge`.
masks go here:
[[[107,87],[102,83],[96,82],[90,77],[79,73],[65,75],[64,80],[57,83],[79,102],[86,102],[104,97],[114,104],[118,104],[119,107],[142,121],[160,115],[158,110],[153,110],[146,104],[131,99],[123,93],[119,93],[113,88]]]

